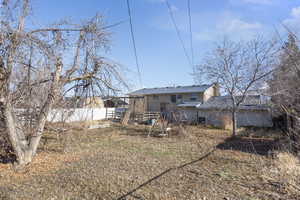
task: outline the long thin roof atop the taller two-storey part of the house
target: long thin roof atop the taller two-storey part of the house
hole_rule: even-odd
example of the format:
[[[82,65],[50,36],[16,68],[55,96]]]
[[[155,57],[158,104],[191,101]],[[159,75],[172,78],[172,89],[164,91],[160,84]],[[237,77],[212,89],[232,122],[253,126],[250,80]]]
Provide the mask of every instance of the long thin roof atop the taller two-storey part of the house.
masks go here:
[[[177,87],[162,87],[162,88],[143,88],[129,93],[130,96],[140,95],[155,95],[155,94],[180,94],[180,93],[198,93],[204,92],[211,85],[191,85],[191,86],[177,86]]]

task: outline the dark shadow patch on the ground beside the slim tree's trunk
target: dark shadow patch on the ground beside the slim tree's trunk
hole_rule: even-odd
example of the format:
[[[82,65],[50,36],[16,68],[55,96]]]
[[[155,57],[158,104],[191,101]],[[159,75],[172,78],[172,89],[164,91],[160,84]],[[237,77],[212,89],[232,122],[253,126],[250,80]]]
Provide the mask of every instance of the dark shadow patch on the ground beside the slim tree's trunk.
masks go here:
[[[227,138],[224,140],[224,142],[218,144],[217,148],[222,150],[236,150],[267,156],[271,151],[278,149],[278,145],[276,140],[272,138],[236,136]]]

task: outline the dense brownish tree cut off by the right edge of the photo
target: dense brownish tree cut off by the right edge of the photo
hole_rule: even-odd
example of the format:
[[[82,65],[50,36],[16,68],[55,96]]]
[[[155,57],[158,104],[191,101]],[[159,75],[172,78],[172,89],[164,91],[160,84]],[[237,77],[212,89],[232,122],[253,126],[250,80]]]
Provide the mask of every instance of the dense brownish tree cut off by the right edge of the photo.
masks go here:
[[[269,80],[270,93],[275,109],[285,114],[287,133],[300,150],[300,49],[295,33],[288,29],[288,39],[281,48],[280,62]],[[282,38],[281,38],[282,39]],[[298,128],[296,128],[298,123]]]

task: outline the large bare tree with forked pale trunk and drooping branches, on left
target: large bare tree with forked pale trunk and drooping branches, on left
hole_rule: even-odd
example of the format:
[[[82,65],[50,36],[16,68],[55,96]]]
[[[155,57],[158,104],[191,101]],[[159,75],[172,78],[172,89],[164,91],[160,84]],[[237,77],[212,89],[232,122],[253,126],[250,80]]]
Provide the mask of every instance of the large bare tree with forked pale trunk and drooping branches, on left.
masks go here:
[[[30,0],[2,0],[0,7],[0,107],[21,166],[32,161],[47,116],[64,96],[103,94],[125,85],[118,65],[101,55],[109,36],[101,16],[31,30],[30,8]],[[17,117],[24,110],[27,121],[36,117],[32,129]]]

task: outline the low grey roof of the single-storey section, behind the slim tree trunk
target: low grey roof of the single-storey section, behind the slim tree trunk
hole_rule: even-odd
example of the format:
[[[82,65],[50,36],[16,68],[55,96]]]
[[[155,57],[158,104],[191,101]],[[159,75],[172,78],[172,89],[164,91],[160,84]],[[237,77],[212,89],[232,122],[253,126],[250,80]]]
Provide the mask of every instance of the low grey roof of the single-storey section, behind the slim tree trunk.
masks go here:
[[[241,96],[236,97],[242,98]],[[230,96],[217,96],[210,98],[203,104],[196,106],[200,110],[219,109],[226,110],[232,107],[232,100]],[[245,98],[244,102],[239,107],[240,110],[268,110],[267,105],[260,104],[259,95],[249,95]]]

